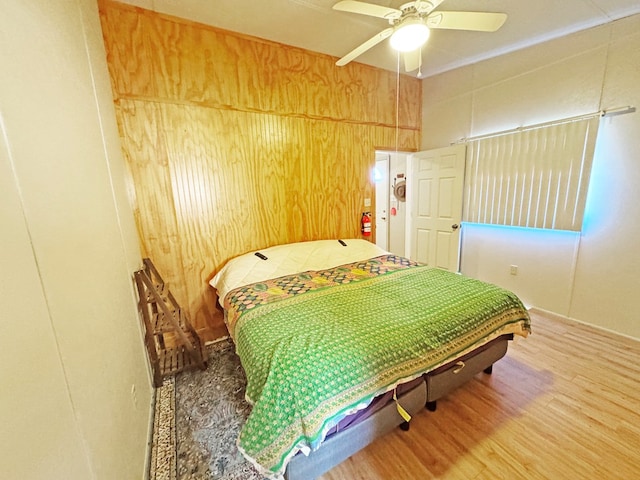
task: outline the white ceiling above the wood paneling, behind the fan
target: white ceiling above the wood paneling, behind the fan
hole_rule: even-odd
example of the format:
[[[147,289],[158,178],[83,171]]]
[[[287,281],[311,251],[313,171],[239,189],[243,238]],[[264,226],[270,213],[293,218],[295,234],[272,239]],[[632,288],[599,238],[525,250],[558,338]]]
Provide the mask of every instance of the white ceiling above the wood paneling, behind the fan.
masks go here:
[[[331,9],[338,0],[122,0],[149,10],[339,57],[388,27],[379,18]],[[398,8],[408,0],[369,0]],[[438,10],[504,12],[494,33],[434,30],[423,47],[423,76],[518,50],[640,13],[639,0],[445,0]],[[388,41],[356,59],[397,68]]]

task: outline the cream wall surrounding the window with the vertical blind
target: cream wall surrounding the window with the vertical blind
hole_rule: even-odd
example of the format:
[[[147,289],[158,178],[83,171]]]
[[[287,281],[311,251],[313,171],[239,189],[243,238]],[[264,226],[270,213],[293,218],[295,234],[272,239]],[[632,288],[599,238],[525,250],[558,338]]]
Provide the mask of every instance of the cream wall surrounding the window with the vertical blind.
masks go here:
[[[422,149],[640,107],[639,79],[640,15],[427,78]],[[640,113],[603,120],[581,235],[465,225],[462,272],[529,305],[640,338],[639,132]]]

